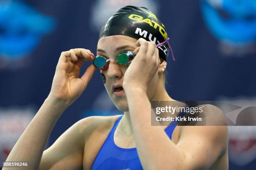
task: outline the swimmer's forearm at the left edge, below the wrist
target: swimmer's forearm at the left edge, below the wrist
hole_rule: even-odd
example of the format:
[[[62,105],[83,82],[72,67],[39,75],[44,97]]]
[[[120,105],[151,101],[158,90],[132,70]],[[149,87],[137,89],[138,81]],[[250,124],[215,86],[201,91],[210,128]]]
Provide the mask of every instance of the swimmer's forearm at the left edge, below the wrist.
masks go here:
[[[25,161],[28,162],[26,169],[37,169],[49,135],[66,108],[64,103],[46,98],[6,161]]]

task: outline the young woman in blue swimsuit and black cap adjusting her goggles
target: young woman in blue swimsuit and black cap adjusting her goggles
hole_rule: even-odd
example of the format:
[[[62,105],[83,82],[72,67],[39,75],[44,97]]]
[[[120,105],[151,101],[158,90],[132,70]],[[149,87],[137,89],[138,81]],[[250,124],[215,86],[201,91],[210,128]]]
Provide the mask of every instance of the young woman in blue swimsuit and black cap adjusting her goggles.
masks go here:
[[[103,25],[96,57],[86,49],[62,52],[49,96],[6,161],[26,161],[24,169],[31,170],[227,170],[226,126],[151,125],[150,102],[174,101],[164,87],[171,50],[167,40],[153,13],[126,6]],[[93,64],[79,78],[87,61]],[[124,115],[84,118],[44,151],[56,121],[86,89],[97,67]],[[221,113],[212,105],[204,111]]]

